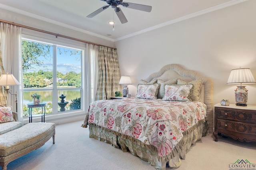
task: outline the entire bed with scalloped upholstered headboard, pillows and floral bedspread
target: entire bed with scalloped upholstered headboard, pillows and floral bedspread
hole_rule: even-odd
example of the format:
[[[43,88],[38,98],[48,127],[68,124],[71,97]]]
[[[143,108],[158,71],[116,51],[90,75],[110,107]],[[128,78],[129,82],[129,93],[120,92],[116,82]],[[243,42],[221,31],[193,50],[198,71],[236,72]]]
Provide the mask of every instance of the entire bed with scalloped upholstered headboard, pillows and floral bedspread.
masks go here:
[[[92,102],[82,127],[90,138],[130,151],[154,168],[177,168],[213,131],[212,80],[169,64],[140,80],[134,98]]]

